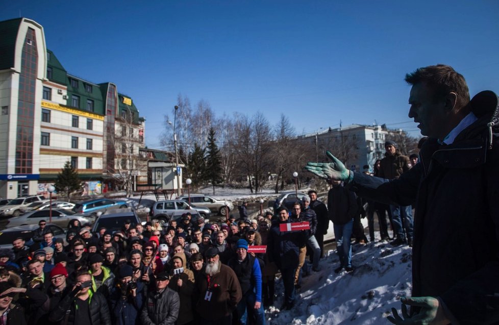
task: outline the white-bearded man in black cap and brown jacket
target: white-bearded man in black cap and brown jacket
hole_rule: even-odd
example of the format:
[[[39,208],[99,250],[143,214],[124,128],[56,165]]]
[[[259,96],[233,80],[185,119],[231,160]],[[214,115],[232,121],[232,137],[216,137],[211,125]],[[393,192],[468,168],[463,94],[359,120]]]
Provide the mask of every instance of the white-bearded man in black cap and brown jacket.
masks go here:
[[[241,286],[234,271],[220,262],[218,249],[206,253],[206,269],[194,287],[194,304],[200,324],[231,325],[232,312],[241,300]]]

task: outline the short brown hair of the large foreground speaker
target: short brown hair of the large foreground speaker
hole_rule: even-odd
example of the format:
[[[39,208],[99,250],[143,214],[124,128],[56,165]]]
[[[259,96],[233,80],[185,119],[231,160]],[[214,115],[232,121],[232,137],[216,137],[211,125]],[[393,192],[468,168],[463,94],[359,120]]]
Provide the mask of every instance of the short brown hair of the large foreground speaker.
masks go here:
[[[451,66],[437,64],[418,68],[412,73],[407,73],[405,80],[410,85],[425,83],[433,91],[434,101],[438,101],[450,92],[455,92],[459,108],[469,103],[468,85],[462,74]]]

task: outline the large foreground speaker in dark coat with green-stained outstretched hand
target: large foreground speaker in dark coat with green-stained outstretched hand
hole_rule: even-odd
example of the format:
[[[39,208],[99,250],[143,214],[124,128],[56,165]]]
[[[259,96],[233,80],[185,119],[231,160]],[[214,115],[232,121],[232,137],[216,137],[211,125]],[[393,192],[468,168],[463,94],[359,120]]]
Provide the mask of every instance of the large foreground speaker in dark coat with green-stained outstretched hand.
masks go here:
[[[328,152],[332,163],[307,169],[377,201],[416,203],[412,297],[401,300],[418,313],[403,313],[407,323],[497,322],[499,98],[482,91],[470,101],[464,77],[447,65],[417,69],[406,81],[409,117],[429,137],[415,166],[387,181],[348,170]],[[390,320],[403,321],[396,312]]]

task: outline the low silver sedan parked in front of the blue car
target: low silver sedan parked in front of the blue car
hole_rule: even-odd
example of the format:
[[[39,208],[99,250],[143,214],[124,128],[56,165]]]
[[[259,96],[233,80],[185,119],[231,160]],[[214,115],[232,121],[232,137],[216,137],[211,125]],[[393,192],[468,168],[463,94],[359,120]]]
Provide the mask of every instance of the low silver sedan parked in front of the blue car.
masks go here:
[[[18,217],[12,217],[9,219],[8,226],[22,226],[23,224],[38,224],[40,220],[45,220],[48,222],[50,218],[50,210],[44,209],[40,211],[28,211],[23,215]],[[74,212],[64,209],[52,209],[52,223],[57,224],[57,226],[66,228],[69,224],[69,220],[78,219],[80,222],[92,223],[95,219],[91,217],[84,217],[82,215],[74,214]]]

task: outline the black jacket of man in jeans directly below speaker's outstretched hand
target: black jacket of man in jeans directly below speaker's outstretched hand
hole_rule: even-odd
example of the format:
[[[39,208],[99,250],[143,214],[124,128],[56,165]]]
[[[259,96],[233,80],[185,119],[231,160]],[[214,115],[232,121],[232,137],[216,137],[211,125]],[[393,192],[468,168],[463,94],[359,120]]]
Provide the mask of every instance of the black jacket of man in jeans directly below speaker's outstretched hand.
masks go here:
[[[328,192],[328,215],[335,224],[350,222],[358,211],[357,197],[353,191],[341,185]]]

